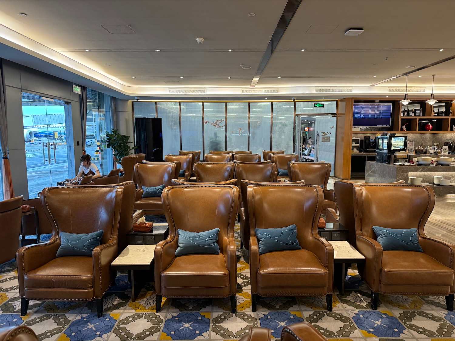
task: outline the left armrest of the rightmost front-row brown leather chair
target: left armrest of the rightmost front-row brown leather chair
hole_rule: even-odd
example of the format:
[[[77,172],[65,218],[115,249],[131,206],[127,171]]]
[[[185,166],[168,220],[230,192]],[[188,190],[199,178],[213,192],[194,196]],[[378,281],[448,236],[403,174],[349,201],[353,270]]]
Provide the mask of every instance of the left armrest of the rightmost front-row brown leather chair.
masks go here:
[[[370,289],[379,292],[380,272],[382,266],[382,246],[366,236],[356,237],[357,250],[365,257],[363,278]]]

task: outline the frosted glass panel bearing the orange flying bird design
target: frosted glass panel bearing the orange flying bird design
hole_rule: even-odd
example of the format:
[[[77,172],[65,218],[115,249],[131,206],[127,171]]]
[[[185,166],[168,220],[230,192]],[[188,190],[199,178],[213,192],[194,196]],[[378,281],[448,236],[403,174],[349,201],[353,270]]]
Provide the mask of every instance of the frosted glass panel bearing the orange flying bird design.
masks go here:
[[[226,150],[224,103],[204,103],[204,146],[209,150]]]

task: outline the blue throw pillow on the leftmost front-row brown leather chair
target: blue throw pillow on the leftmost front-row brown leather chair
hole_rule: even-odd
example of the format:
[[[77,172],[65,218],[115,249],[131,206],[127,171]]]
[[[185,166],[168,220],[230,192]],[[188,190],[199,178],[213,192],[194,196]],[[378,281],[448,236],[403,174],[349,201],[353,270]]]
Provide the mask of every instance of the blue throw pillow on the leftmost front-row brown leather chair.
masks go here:
[[[96,246],[100,245],[103,230],[91,233],[60,232],[60,247],[57,257],[89,256]]]

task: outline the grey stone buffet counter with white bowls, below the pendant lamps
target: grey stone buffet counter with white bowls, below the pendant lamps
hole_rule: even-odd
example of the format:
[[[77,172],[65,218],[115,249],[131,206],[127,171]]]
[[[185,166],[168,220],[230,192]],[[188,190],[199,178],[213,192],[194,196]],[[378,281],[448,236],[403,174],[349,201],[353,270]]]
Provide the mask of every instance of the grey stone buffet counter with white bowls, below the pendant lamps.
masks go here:
[[[433,187],[436,196],[455,194],[455,165],[390,165],[366,161],[365,183],[386,183],[403,180],[406,184],[410,176],[422,178],[422,185]],[[450,180],[450,186],[433,183],[434,176]]]

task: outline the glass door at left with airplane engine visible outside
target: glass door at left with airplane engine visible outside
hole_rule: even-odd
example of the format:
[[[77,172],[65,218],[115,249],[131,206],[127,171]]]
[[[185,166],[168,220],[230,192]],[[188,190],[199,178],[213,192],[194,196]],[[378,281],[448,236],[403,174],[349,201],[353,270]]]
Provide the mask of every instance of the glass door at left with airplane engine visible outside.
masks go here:
[[[68,178],[65,110],[62,100],[22,93],[29,197]]]

